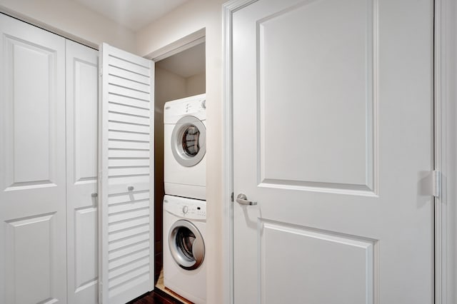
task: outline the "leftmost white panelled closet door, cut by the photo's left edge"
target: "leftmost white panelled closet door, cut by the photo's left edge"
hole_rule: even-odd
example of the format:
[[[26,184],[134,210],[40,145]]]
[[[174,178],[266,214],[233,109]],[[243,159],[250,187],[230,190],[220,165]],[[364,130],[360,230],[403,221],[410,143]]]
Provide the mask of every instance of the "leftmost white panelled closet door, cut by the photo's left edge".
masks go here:
[[[66,303],[65,39],[0,14],[0,303]]]

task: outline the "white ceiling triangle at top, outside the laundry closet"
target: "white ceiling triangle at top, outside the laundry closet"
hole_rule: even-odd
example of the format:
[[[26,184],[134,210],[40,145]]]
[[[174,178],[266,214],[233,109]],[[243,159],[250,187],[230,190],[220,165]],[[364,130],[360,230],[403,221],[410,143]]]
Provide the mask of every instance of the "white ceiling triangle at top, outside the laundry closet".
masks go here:
[[[127,29],[138,31],[152,21],[189,0],[73,0],[115,21]]]

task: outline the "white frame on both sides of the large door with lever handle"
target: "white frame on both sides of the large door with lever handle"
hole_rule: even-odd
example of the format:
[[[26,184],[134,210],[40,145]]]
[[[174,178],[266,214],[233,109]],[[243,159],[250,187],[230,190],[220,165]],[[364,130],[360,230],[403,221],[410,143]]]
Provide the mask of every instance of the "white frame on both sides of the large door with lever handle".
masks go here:
[[[232,101],[232,16],[258,0],[232,0],[223,5],[223,110],[224,110],[224,218],[223,218],[223,303],[233,303],[233,101]],[[456,77],[457,18],[453,0],[435,0],[434,120],[435,169],[441,172],[441,191],[435,200],[435,304],[456,303],[457,290],[453,223],[457,220],[457,120]],[[456,298],[454,298],[456,297]]]

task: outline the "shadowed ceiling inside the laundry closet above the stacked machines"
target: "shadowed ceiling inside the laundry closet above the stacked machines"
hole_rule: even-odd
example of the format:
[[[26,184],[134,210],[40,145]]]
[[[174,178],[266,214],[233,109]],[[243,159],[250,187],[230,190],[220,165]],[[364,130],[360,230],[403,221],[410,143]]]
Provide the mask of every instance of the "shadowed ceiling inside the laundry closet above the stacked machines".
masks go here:
[[[205,73],[205,44],[197,44],[190,49],[156,62],[156,66],[184,78]]]

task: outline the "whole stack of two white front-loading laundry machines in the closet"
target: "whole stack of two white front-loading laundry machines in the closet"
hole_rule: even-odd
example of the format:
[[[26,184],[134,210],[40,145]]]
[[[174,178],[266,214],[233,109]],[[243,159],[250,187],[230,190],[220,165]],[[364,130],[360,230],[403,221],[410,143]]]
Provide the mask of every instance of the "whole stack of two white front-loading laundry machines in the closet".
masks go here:
[[[206,98],[164,105],[164,285],[206,303]]]

